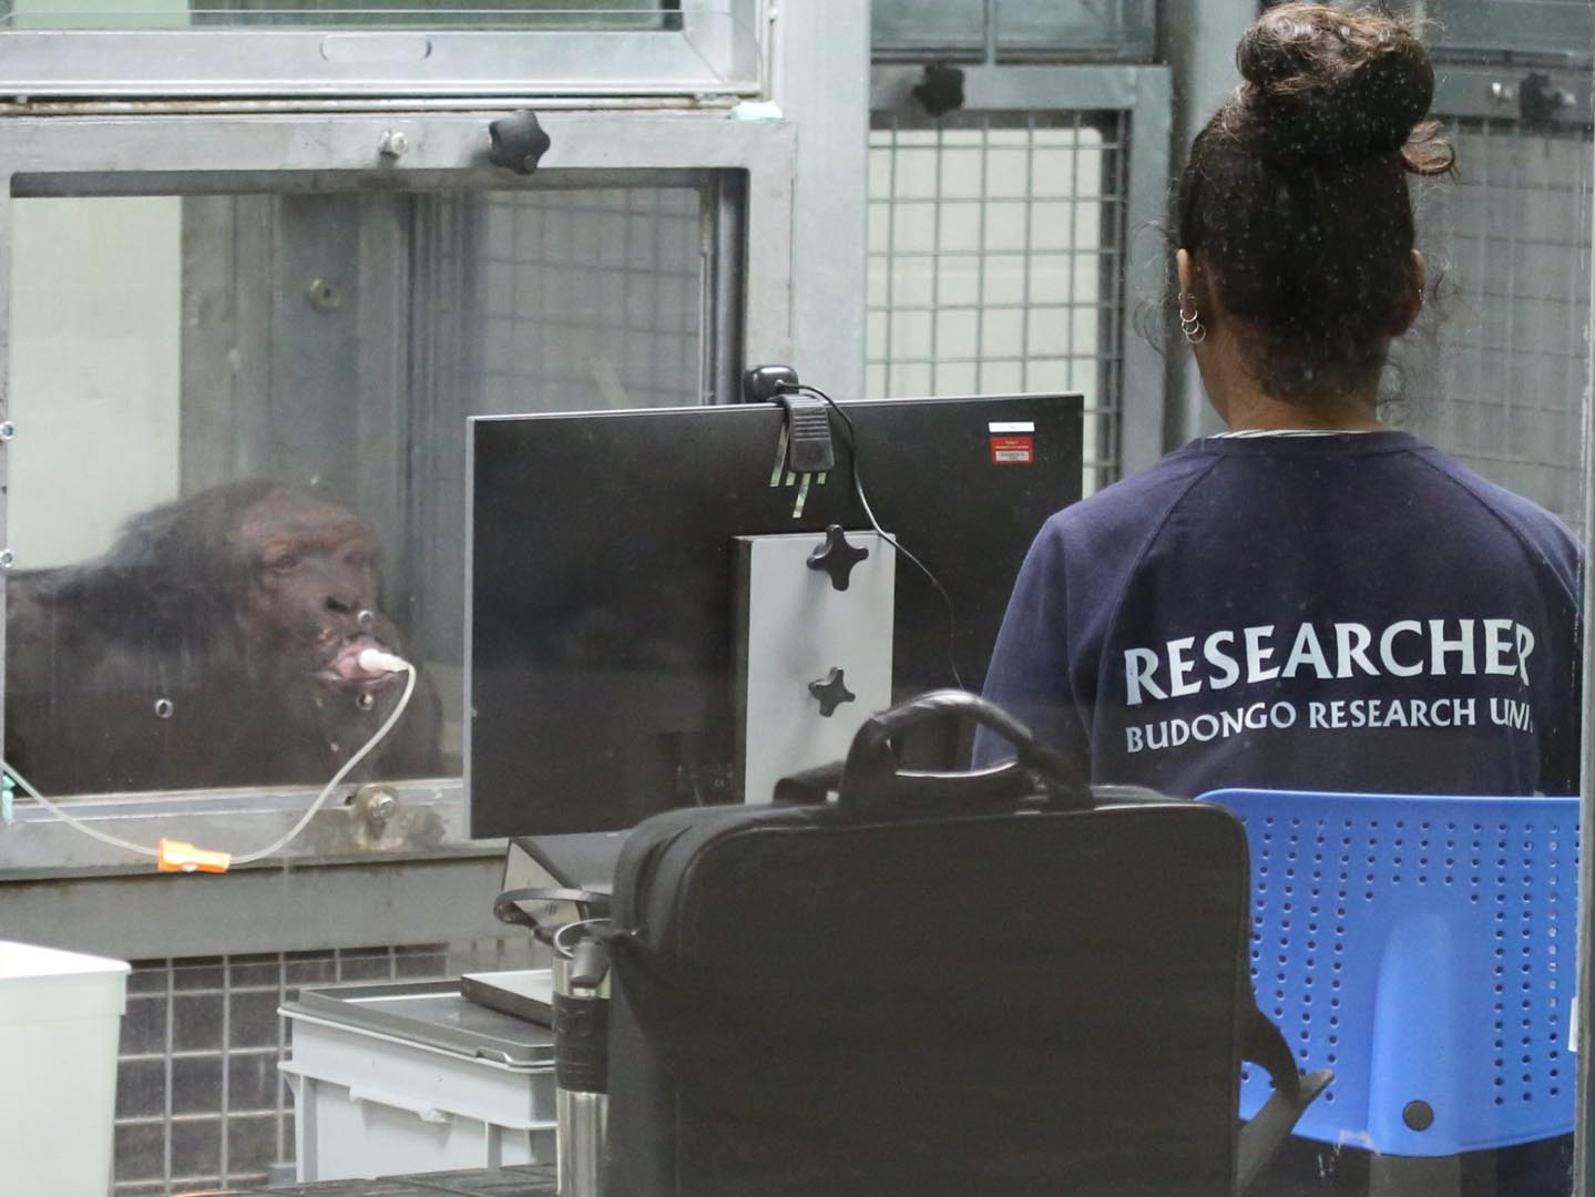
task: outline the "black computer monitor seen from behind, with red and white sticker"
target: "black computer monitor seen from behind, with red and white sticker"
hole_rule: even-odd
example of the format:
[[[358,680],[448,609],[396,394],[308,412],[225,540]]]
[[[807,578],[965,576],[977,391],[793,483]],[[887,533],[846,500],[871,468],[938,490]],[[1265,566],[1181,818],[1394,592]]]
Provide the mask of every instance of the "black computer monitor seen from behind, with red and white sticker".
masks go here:
[[[1080,497],[1081,398],[841,406],[852,432],[831,416],[836,467],[809,478],[778,469],[775,403],[471,421],[472,835],[616,830],[743,799],[742,755],[758,755],[761,733],[738,709],[750,661],[737,636],[750,623],[746,550],[766,544],[746,537],[813,540],[834,524],[876,547],[871,567],[890,574],[895,559],[892,631],[879,638],[888,689],[876,701],[952,685],[954,663],[979,689],[1030,540]],[[876,520],[936,575],[955,634],[936,588],[872,536],[855,454]],[[833,598],[825,579],[801,585]],[[855,727],[861,701],[844,712]],[[738,735],[751,741],[740,754]],[[944,741],[917,751],[954,763]]]

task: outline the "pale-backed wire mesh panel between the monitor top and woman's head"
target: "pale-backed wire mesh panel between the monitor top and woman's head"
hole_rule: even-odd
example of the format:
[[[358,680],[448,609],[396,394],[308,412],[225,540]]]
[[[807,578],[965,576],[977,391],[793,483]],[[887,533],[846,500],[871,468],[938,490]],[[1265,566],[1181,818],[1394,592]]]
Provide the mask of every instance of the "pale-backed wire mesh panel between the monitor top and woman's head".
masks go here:
[[[874,116],[871,395],[1081,390],[1085,489],[1120,475],[1128,126]]]

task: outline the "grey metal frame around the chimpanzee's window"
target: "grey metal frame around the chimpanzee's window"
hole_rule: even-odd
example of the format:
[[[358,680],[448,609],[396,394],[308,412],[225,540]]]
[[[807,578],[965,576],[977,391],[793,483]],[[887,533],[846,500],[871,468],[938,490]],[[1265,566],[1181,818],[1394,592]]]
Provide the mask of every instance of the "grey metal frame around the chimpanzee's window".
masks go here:
[[[171,194],[177,188],[195,193],[536,186],[536,180],[528,183],[486,161],[486,123],[498,115],[0,120],[0,287],[5,287],[0,301],[0,397],[10,383],[13,198]],[[555,112],[547,116],[545,128],[553,143],[542,159],[542,171],[569,172],[566,177],[587,185],[611,175],[635,180],[638,172],[646,171],[740,172],[746,179],[745,186],[729,186],[726,194],[742,191],[742,210],[727,225],[745,230],[740,261],[746,276],[745,282],[721,281],[718,285],[743,300],[740,332],[748,360],[791,360],[796,134],[790,123],[729,121],[708,113]],[[402,131],[412,148],[402,159],[384,164],[380,147],[394,131]],[[718,324],[724,325],[724,317]],[[727,346],[726,352],[734,354],[737,347]],[[731,359],[719,362],[716,376],[731,376],[732,365]],[[19,429],[18,437],[26,442],[27,430]],[[5,472],[5,454],[0,453],[0,544]],[[373,789],[399,799],[399,816],[378,824],[364,816],[360,802],[349,807],[329,803],[279,859],[295,864],[381,859],[424,867],[440,856],[501,856],[502,842],[467,838],[459,778],[364,787],[367,792]],[[171,834],[242,851],[270,843],[287,830],[314,794],[314,789],[258,787],[222,794],[105,795],[78,799],[73,811],[136,843],[153,845]],[[147,869],[147,861],[132,862],[29,805],[18,808],[16,822],[0,824],[0,881]],[[239,881],[242,878],[236,878],[234,885]],[[325,936],[325,929],[316,928],[314,921],[306,928],[313,940]],[[236,932],[236,928],[231,931]],[[293,942],[303,939],[282,926],[274,932],[273,945],[284,936]],[[429,932],[427,937],[434,936]],[[282,948],[276,945],[271,950]]]

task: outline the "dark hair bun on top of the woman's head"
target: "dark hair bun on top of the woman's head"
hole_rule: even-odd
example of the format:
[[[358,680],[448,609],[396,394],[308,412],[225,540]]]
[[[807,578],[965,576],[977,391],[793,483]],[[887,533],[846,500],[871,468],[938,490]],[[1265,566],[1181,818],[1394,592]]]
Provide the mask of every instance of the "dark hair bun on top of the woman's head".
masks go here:
[[[1281,5],[1246,30],[1235,59],[1246,83],[1243,128],[1231,132],[1263,159],[1295,166],[1402,151],[1420,174],[1451,164],[1448,147],[1431,145],[1434,64],[1407,21]]]

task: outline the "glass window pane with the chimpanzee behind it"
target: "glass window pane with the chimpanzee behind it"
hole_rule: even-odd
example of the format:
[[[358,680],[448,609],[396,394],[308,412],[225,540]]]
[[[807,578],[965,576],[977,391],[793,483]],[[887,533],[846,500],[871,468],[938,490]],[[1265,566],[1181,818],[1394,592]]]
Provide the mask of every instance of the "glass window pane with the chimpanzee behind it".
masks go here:
[[[321,784],[383,644],[370,773],[458,773],[466,416],[700,402],[705,194],[13,201],[6,759]]]

